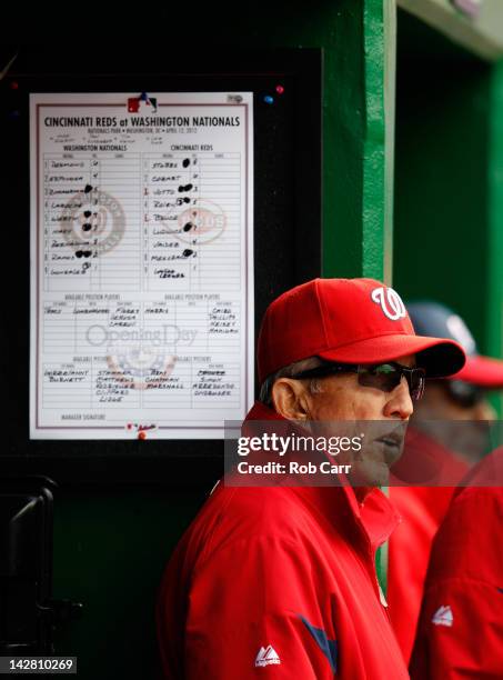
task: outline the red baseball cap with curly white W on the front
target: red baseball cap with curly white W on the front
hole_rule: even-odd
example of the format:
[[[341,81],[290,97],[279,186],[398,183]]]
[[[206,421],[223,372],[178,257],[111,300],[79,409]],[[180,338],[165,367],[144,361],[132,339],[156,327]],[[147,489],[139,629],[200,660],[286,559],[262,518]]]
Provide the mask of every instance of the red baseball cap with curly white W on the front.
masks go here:
[[[313,279],[268,307],[259,334],[259,380],[308,357],[379,363],[418,354],[429,378],[459,371],[463,348],[416,336],[402,299],[374,279]]]

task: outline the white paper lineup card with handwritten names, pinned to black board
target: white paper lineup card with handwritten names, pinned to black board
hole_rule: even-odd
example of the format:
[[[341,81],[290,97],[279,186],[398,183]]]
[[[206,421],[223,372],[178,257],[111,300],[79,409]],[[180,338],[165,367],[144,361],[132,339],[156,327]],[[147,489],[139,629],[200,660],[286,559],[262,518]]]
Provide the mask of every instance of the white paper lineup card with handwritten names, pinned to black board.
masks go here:
[[[244,418],[252,102],[30,96],[32,439],[222,438]]]

